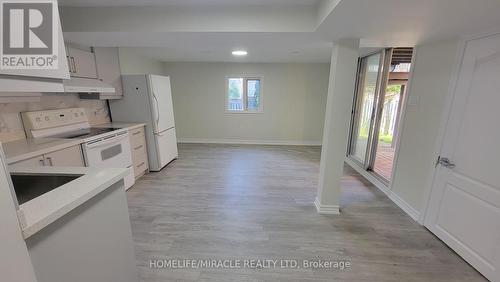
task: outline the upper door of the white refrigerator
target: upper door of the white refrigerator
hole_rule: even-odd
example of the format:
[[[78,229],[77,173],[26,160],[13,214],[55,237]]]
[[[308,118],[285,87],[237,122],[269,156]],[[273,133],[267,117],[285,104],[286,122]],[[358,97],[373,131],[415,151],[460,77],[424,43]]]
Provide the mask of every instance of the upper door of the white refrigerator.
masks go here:
[[[168,76],[150,75],[153,126],[155,133],[175,126],[172,104],[172,90]]]

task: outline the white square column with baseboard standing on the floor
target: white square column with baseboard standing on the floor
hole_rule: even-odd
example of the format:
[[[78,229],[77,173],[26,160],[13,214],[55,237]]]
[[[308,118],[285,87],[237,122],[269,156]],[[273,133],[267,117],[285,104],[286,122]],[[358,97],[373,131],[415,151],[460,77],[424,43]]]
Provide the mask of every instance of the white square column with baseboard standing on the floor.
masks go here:
[[[349,137],[358,57],[358,39],[341,40],[333,44],[318,196],[314,202],[320,214],[340,212],[340,182]]]

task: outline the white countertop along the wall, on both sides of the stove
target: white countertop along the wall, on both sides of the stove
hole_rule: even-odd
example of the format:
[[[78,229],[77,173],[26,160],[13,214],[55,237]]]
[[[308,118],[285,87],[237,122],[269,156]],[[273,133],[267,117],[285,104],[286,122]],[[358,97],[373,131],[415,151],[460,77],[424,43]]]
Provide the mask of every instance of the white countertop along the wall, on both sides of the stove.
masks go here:
[[[131,130],[142,126],[145,126],[145,124],[112,122],[93,125],[92,127],[128,128]],[[3,143],[3,150],[6,156],[7,164],[13,164],[15,162],[76,146],[82,142],[82,139],[28,138]]]

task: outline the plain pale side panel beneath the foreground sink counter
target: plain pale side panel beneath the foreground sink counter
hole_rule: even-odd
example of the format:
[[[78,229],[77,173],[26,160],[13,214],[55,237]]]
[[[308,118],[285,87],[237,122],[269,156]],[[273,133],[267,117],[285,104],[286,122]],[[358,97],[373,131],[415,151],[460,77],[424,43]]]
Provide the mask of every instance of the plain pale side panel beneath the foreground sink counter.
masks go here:
[[[124,190],[116,182],[26,239],[38,282],[139,281]]]

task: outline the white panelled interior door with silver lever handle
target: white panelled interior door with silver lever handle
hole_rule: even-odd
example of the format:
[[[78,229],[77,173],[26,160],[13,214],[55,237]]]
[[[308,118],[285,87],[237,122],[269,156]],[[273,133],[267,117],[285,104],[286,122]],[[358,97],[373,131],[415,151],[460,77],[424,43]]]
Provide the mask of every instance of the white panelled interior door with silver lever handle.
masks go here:
[[[500,35],[469,41],[425,226],[500,281]],[[453,167],[453,164],[456,166]]]

